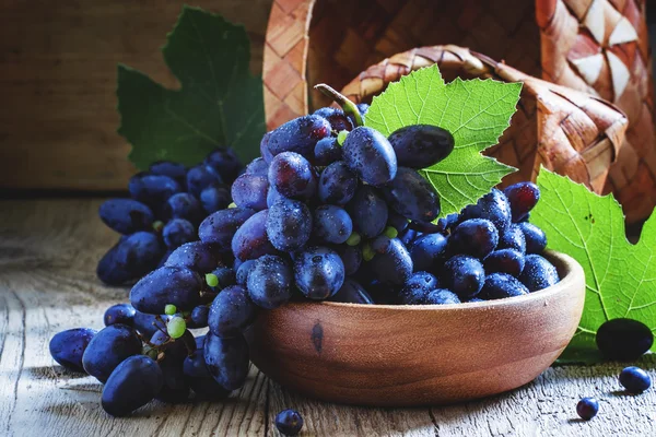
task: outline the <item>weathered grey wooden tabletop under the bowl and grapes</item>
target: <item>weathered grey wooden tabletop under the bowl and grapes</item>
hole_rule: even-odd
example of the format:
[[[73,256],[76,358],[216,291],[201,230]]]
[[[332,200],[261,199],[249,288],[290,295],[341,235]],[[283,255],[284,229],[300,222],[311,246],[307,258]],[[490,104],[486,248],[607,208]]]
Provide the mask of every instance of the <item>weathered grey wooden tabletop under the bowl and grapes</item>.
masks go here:
[[[509,393],[453,406],[367,409],[314,401],[251,367],[244,388],[222,403],[152,402],[129,418],[99,405],[101,385],[50,358],[56,332],[103,327],[106,307],[127,290],[95,277],[117,238],[97,218],[99,199],[0,201],[0,436],[277,435],[285,408],[305,418],[305,436],[656,436],[656,391],[621,391],[620,364],[550,368]],[[652,375],[654,355],[641,363]],[[575,413],[594,395],[590,422]]]

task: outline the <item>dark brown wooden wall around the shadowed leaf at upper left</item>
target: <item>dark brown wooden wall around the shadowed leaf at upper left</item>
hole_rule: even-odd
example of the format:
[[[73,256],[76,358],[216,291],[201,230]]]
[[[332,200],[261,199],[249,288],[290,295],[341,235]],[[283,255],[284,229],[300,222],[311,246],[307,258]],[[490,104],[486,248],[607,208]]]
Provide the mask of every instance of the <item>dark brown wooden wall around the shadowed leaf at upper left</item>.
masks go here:
[[[184,1],[8,0],[0,7],[0,187],[125,189],[116,66],[176,86],[160,47]],[[244,23],[261,71],[271,0],[196,1]]]

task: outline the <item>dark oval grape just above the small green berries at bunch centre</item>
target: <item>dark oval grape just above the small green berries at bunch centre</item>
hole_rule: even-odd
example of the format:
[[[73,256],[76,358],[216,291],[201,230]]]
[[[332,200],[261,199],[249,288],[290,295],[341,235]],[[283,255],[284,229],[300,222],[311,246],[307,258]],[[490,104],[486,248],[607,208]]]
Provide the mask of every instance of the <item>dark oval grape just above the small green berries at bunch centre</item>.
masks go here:
[[[380,235],[387,225],[387,203],[380,191],[372,186],[361,186],[347,204],[347,211],[353,228],[365,238]]]

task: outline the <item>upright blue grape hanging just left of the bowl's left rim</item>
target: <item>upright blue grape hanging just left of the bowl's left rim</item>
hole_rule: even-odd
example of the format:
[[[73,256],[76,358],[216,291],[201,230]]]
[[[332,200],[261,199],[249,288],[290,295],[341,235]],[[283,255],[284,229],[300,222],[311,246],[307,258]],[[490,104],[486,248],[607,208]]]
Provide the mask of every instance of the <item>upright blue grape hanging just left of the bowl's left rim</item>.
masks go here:
[[[255,320],[255,310],[246,288],[241,285],[229,286],[212,302],[208,315],[210,332],[219,336],[238,334]]]

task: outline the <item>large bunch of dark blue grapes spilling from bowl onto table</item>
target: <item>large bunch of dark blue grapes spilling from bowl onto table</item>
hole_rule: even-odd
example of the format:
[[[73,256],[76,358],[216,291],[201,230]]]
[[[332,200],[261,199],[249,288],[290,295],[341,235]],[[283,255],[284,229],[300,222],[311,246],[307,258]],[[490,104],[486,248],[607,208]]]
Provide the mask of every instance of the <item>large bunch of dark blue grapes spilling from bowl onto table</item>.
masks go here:
[[[137,175],[129,208],[101,209],[132,234],[98,274],[122,283],[156,269],[132,287],[130,304],[107,310],[102,331],[57,334],[54,358],[104,382],[103,408],[126,415],[154,398],[221,399],[242,387],[244,330],[259,310],[290,300],[454,304],[559,281],[540,256],[544,234],[527,221],[535,185],[494,189],[433,224],[440,197],[418,169],[444,160],[453,135],[417,125],[386,138],[362,126],[366,109],[326,107],[280,126],[243,172],[218,151],[189,170],[160,163]],[[227,192],[222,181],[232,179]],[[166,221],[167,255],[150,231],[156,218]],[[194,338],[189,329],[200,328],[209,330]]]

